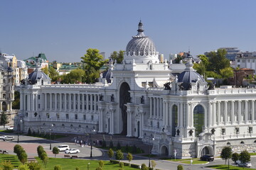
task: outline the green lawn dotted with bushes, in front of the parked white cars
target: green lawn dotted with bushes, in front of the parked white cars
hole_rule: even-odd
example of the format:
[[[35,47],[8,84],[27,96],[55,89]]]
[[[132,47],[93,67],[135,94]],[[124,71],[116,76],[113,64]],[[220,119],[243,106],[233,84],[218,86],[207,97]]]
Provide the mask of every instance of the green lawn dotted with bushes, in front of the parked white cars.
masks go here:
[[[38,162],[41,163],[42,161],[38,159]],[[64,158],[49,158],[47,166],[45,170],[53,170],[55,165],[60,165],[62,170],[75,170],[76,167],[79,169],[87,169],[88,163],[89,169],[96,169],[99,166],[99,161],[93,161],[93,160],[86,160],[86,159],[64,159]],[[119,169],[119,164],[112,164],[109,161],[104,161],[104,170],[113,170],[113,169]],[[124,170],[134,170],[134,168],[129,166],[124,166]]]

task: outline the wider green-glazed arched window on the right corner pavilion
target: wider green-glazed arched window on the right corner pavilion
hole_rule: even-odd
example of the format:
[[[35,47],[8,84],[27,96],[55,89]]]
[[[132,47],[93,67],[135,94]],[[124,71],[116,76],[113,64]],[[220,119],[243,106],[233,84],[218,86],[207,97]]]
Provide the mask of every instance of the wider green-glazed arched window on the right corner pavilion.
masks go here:
[[[193,126],[196,128],[195,135],[203,132],[205,111],[203,106],[197,105],[193,110]]]

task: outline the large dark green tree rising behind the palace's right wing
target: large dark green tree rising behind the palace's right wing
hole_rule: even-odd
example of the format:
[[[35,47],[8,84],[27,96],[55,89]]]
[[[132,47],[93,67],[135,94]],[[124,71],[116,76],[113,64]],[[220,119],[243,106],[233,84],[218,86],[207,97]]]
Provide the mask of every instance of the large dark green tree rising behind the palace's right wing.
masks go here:
[[[208,71],[220,74],[220,69],[230,67],[230,60],[225,57],[226,54],[227,51],[225,49],[218,49],[217,52],[210,52],[207,56],[209,58]]]

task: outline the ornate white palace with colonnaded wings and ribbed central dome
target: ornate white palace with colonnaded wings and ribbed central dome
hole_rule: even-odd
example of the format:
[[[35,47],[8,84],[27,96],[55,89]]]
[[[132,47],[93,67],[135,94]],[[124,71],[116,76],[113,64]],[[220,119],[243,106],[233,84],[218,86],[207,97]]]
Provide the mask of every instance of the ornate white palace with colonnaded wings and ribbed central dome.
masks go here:
[[[50,84],[40,64],[18,86],[16,130],[138,137],[152,153],[176,157],[219,155],[256,147],[256,89],[215,89],[186,64],[159,62],[139,22],[122,64],[110,60],[96,84]],[[52,125],[54,125],[52,127]]]

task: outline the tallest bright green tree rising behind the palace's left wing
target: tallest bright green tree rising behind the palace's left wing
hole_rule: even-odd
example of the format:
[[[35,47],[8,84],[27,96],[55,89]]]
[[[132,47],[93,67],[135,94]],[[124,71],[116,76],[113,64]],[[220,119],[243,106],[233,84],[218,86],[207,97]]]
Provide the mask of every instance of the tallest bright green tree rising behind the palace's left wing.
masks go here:
[[[100,77],[100,67],[102,67],[107,60],[104,60],[97,49],[89,48],[84,57],[81,57],[83,69],[85,70],[85,82],[95,83],[96,79]]]

